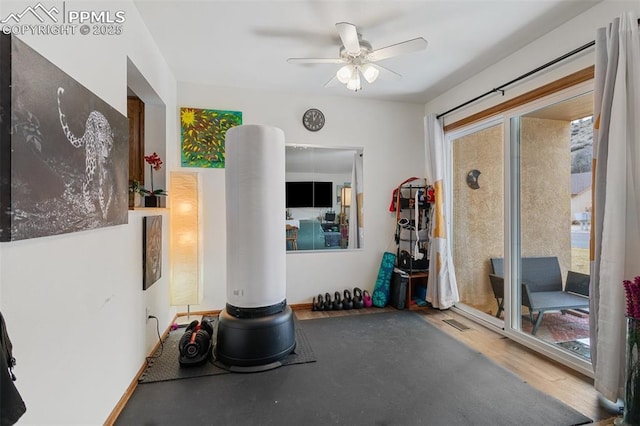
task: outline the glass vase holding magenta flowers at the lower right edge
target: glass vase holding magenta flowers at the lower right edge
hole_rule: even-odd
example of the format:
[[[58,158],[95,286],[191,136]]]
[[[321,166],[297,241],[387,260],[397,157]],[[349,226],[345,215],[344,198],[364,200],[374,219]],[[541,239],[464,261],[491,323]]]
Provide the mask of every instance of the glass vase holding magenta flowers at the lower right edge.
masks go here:
[[[627,317],[625,425],[640,425],[640,319]]]

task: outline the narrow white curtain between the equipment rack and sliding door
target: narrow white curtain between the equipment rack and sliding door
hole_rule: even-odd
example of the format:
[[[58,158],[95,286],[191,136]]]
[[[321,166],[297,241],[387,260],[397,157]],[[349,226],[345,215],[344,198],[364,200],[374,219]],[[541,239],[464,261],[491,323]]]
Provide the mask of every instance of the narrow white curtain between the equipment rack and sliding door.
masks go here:
[[[425,118],[425,153],[427,183],[435,190],[435,203],[431,213],[429,247],[429,279],[427,301],[434,308],[448,309],[460,300],[456,274],[453,269],[451,241],[447,236],[447,221],[450,212],[445,205],[445,182],[447,163],[444,150],[442,123],[435,115]]]

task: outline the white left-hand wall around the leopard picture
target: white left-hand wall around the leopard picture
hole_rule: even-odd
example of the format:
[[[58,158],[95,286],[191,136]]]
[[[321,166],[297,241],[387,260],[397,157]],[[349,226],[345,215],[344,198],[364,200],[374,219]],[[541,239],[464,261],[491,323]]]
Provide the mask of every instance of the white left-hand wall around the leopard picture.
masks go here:
[[[60,2],[47,3],[60,7]],[[3,1],[2,13],[33,2]],[[168,106],[176,83],[130,2],[67,1],[67,10],[125,10],[119,36],[23,36],[27,44],[126,115],[127,56]],[[3,15],[4,16],[4,15]],[[164,145],[164,144],[163,144]],[[142,216],[163,215],[163,277],[142,291]],[[155,344],[168,301],[166,210],[129,212],[129,224],[0,245],[0,309],[27,405],[20,424],[102,424]]]

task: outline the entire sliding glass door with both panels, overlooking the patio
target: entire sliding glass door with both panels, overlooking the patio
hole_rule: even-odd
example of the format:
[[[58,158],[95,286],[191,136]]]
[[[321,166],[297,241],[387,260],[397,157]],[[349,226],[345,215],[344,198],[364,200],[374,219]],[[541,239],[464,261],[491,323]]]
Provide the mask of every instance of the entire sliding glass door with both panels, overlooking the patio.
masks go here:
[[[583,84],[447,134],[456,307],[581,371],[592,109]]]

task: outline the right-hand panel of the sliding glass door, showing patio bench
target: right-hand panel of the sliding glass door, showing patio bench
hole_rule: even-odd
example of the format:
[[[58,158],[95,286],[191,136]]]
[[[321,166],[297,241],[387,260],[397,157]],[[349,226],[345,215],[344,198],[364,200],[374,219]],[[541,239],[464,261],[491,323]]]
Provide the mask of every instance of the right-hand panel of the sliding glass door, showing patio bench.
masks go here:
[[[593,96],[532,107],[509,119],[511,328],[589,362]]]

